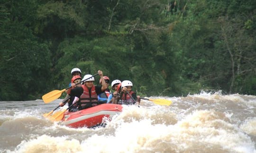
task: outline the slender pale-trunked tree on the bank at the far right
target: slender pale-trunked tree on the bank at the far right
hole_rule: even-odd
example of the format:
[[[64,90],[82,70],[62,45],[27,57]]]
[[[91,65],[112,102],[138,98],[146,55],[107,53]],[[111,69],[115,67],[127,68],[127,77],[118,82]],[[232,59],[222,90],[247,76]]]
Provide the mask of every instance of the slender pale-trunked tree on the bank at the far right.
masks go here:
[[[229,81],[229,93],[241,91],[243,85],[239,78],[243,79],[247,75],[256,74],[256,53],[253,51],[255,39],[246,33],[242,18],[244,17],[219,18],[223,49],[228,51],[230,55],[231,79]]]

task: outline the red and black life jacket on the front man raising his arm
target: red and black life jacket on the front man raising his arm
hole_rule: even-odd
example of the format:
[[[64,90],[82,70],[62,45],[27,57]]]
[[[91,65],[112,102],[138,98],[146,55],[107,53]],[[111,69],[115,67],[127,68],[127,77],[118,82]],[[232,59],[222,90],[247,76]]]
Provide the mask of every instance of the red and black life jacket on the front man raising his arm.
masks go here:
[[[98,95],[93,85],[89,90],[86,85],[82,85],[83,93],[80,96],[80,101],[78,103],[79,110],[90,108],[98,105]]]

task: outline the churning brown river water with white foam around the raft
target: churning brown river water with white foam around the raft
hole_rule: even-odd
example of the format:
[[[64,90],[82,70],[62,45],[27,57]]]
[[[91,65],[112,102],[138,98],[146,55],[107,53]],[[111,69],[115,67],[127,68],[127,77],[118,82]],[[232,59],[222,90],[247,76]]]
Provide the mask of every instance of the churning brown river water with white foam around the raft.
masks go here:
[[[150,98],[173,103],[142,100],[94,129],[45,119],[61,99],[0,102],[0,153],[256,153],[256,96]]]

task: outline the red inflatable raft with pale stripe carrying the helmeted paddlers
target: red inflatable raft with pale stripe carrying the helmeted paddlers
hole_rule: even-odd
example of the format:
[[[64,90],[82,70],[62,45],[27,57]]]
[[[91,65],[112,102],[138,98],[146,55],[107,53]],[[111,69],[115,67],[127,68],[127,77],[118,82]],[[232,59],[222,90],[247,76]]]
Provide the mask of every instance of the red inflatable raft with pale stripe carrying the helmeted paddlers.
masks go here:
[[[68,127],[94,127],[102,123],[104,117],[109,118],[122,111],[122,105],[104,103],[76,112],[65,112],[62,124]]]

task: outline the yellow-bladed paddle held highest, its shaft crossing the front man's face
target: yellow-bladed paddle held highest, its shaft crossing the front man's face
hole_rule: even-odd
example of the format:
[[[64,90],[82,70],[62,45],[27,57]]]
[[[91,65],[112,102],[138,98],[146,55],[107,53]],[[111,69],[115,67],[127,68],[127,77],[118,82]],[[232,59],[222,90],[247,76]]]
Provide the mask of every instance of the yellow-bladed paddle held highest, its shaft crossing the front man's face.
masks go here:
[[[98,73],[93,75],[93,76],[97,76],[99,75]],[[91,76],[91,77],[93,77]],[[85,80],[88,80],[90,79],[91,77],[87,78],[87,79],[84,79],[78,83],[76,83],[75,85],[78,85],[78,84],[81,84],[82,82],[84,82]],[[55,99],[59,98],[61,96],[61,94],[66,91],[67,89],[71,88],[72,86],[66,88],[66,89],[63,89],[63,90],[54,90],[54,91],[51,91],[49,93],[46,93],[45,95],[42,96],[42,99],[45,103],[49,103],[49,102],[52,102],[54,101]]]

